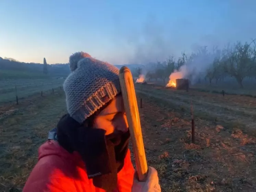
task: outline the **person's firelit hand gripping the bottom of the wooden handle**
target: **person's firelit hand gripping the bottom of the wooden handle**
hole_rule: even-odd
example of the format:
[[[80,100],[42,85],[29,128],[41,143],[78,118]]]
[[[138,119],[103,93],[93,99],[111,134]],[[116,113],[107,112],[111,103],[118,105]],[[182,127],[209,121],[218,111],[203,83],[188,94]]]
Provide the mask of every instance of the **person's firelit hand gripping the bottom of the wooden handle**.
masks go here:
[[[146,181],[144,182],[138,181],[135,175],[132,185],[132,192],[161,192],[157,170],[153,167],[148,167],[148,175]]]

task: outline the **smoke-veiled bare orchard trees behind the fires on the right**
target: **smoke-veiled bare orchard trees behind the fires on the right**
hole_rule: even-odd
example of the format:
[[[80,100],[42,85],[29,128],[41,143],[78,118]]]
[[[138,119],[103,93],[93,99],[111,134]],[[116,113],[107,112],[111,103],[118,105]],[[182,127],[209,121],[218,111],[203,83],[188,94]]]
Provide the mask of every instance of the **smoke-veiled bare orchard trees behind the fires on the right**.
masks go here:
[[[182,52],[178,60],[170,56],[165,61],[149,63],[146,66],[146,78],[162,79],[166,83],[171,73],[183,69],[184,78],[196,82],[204,79],[211,84],[213,80],[218,83],[225,78],[233,78],[243,88],[245,78],[256,79],[256,40],[228,44],[222,49],[199,47],[197,52],[190,55]],[[136,74],[143,74],[143,69],[137,68]]]

